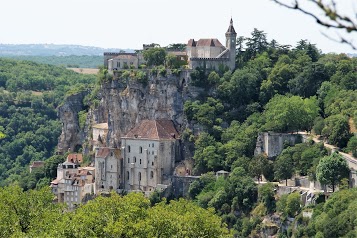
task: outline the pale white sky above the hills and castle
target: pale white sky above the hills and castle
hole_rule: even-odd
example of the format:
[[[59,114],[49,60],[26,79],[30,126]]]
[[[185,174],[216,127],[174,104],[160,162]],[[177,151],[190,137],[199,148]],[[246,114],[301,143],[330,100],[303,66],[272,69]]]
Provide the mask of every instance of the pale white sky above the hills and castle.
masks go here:
[[[357,12],[355,0],[337,2],[343,4],[341,12]],[[238,36],[249,37],[257,28],[280,44],[295,46],[307,39],[324,53],[357,53],[323,35],[336,36],[334,30],[271,0],[4,0],[0,44],[141,49],[143,44],[167,46],[191,38],[218,38],[224,44],[231,17]],[[346,37],[357,43],[356,33]]]

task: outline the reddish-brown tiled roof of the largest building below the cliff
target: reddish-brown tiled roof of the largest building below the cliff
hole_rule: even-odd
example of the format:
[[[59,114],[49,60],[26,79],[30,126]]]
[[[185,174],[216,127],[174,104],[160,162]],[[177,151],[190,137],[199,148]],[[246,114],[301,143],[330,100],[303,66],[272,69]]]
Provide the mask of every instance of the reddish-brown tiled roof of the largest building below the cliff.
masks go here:
[[[171,120],[143,120],[131,129],[125,137],[153,140],[174,139],[179,138],[179,133]]]

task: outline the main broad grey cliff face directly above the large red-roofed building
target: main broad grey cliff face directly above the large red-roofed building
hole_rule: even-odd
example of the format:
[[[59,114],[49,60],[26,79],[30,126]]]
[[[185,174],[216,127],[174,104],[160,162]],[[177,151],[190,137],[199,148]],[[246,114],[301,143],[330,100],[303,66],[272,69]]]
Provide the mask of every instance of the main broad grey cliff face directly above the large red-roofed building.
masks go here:
[[[185,100],[194,97],[187,79],[168,75],[149,76],[147,85],[128,80],[126,87],[118,81],[102,85],[101,107],[107,111],[108,144],[120,145],[120,137],[143,119],[171,119],[180,131],[186,124],[183,116]]]

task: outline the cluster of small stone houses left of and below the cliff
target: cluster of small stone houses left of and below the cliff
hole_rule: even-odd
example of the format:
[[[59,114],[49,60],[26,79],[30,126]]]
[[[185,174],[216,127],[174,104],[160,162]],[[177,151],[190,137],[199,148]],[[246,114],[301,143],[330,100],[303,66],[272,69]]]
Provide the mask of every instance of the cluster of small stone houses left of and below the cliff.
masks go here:
[[[64,202],[70,209],[83,202],[86,195],[95,193],[94,168],[81,168],[77,163],[65,161],[57,167],[57,178],[51,182],[57,202]]]

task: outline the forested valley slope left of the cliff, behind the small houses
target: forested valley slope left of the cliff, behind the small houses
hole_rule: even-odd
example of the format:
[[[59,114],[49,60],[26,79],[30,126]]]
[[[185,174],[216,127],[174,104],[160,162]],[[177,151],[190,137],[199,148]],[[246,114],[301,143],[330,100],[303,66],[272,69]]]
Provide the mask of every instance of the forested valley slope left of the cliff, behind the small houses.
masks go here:
[[[95,76],[63,67],[0,59],[0,186],[18,181],[35,188],[38,179],[28,177],[28,166],[55,151],[61,132],[56,108],[94,82]]]

